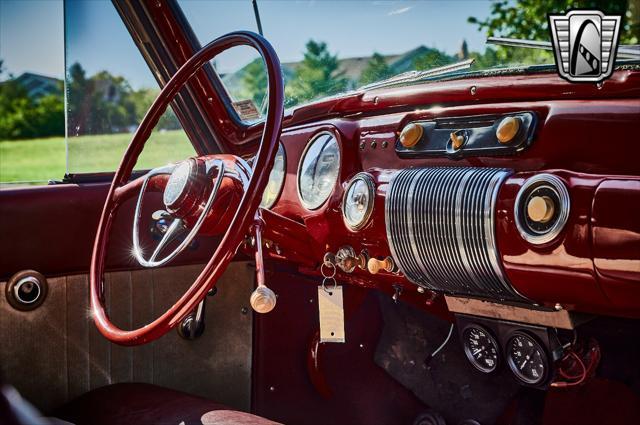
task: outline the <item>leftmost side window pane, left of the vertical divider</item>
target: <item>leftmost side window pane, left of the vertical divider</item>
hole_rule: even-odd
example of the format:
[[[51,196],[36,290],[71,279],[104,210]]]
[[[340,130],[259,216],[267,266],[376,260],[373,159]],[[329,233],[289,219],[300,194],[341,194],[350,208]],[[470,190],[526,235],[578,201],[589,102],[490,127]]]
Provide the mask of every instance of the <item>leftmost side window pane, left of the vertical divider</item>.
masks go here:
[[[0,1],[0,187],[64,176],[62,34],[62,3]]]

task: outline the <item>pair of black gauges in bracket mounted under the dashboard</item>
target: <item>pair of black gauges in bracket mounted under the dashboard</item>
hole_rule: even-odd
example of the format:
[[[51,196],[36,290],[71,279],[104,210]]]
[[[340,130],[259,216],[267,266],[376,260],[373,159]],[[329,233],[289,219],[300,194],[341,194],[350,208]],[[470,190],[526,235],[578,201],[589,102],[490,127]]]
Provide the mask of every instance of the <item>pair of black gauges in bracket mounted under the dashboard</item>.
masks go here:
[[[469,363],[482,373],[508,370],[522,385],[544,387],[562,357],[555,330],[503,320],[457,315],[460,340]]]

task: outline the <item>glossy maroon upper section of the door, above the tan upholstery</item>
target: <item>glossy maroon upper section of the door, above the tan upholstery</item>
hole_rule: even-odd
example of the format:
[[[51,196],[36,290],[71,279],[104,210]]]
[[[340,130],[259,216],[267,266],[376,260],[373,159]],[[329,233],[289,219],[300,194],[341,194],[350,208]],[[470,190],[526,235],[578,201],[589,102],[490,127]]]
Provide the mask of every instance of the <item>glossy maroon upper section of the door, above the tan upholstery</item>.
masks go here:
[[[88,272],[108,190],[108,183],[0,190],[0,279],[25,269],[45,276]],[[143,217],[148,218],[163,204],[159,193],[145,196]],[[118,211],[110,237],[108,270],[140,268],[131,256],[134,209],[135,199],[129,199]],[[144,241],[149,236],[142,237]],[[197,249],[185,250],[172,264],[208,261],[217,239],[197,241]]]

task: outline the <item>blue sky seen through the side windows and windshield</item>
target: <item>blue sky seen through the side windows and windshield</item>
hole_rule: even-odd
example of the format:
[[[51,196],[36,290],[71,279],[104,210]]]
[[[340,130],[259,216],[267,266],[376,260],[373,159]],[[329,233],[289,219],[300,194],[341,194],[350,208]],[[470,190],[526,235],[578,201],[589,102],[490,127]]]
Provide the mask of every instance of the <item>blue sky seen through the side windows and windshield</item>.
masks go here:
[[[179,0],[204,45],[234,30],[257,31],[251,0]],[[484,50],[484,35],[469,16],[489,14],[487,1],[258,1],[265,37],[282,62],[302,59],[304,45],[325,41],[340,58],[397,54],[419,45],[457,52]],[[64,7],[58,0],[0,0],[0,58],[5,68],[62,78],[64,75]],[[153,87],[140,53],[110,1],[67,2],[67,62],[80,62],[92,75],[108,70],[125,76],[135,88]],[[217,60],[228,72],[255,57],[248,48]]]

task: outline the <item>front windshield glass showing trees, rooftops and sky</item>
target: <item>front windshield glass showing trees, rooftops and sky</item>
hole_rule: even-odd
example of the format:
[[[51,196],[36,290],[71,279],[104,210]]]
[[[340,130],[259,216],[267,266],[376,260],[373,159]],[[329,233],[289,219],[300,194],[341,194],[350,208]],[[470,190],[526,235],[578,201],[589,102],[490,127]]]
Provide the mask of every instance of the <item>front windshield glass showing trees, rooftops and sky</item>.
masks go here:
[[[257,31],[250,1],[179,3],[202,44],[229,31]],[[468,71],[553,64],[550,51],[489,46],[486,39],[550,41],[547,14],[565,13],[568,3],[257,2],[264,36],[282,62],[287,107],[471,58]],[[621,44],[638,42],[635,2],[604,2],[601,7],[606,14],[623,16]],[[266,79],[261,60],[249,50],[238,49],[214,66],[234,102],[251,101],[260,111]]]

